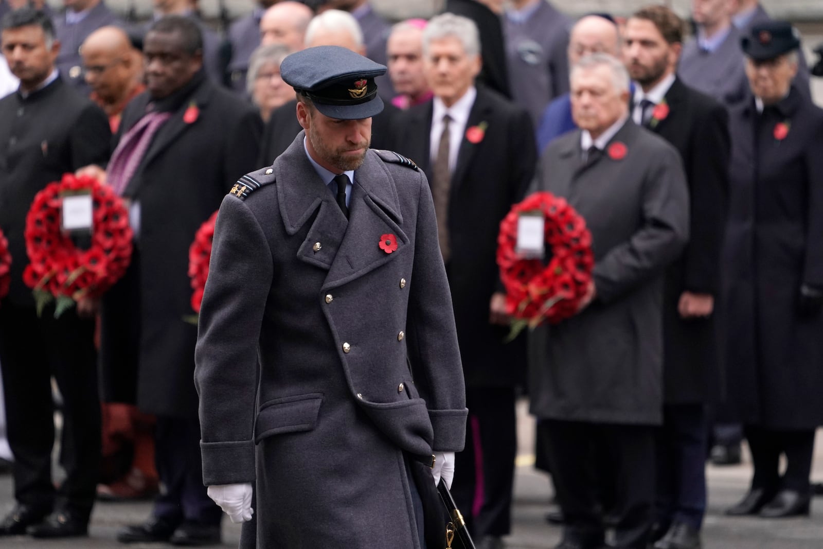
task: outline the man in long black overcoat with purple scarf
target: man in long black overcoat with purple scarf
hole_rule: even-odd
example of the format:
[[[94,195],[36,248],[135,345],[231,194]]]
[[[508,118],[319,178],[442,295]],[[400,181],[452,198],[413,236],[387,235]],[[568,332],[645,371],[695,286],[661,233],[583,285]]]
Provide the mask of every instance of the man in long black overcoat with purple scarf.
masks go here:
[[[104,302],[102,359],[109,372],[137,370],[132,398],[157,416],[165,491],[151,519],[118,538],[213,543],[221,511],[202,486],[188,249],[220,206],[226,181],[254,165],[261,123],[251,105],[206,76],[200,31],[189,18],[154,23],[143,53],[147,91],[123,113],[107,172],[130,203],[136,254]],[[118,402],[129,402],[123,398]]]

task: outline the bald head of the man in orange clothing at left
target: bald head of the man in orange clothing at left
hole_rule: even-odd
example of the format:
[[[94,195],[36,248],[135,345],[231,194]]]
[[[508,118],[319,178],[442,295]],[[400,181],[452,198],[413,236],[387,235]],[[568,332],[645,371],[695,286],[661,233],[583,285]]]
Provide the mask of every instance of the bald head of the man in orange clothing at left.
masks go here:
[[[105,103],[123,100],[142,72],[142,59],[128,35],[116,26],[104,26],[88,35],[80,47],[86,83]]]

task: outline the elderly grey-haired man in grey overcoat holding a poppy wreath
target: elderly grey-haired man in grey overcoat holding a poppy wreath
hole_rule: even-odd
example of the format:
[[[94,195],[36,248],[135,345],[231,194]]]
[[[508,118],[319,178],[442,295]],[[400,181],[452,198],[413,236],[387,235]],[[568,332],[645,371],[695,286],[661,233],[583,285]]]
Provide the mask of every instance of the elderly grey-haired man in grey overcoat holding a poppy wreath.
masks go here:
[[[566,519],[557,547],[602,547],[590,471],[608,452],[619,514],[612,547],[645,549],[653,432],[663,421],[663,274],[688,240],[688,188],[677,150],[630,119],[629,76],[616,58],[574,65],[571,105],[579,129],[546,147],[532,188],[584,217],[594,269],[578,314],[530,334],[531,412]]]

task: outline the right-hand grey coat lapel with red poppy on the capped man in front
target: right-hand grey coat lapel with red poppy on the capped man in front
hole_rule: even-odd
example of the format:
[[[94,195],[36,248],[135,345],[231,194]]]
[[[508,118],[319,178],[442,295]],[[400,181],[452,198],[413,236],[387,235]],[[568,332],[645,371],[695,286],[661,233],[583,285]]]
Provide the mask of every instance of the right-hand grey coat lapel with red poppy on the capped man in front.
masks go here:
[[[334,206],[337,207],[337,204]],[[340,208],[337,207],[337,210],[339,212]],[[409,253],[410,240],[400,228],[400,223],[402,215],[394,180],[383,162],[370,151],[363,165],[355,171],[348,226],[323,282],[323,291],[362,277],[384,263]],[[383,235],[394,235],[397,240],[398,249],[391,254],[380,248]]]

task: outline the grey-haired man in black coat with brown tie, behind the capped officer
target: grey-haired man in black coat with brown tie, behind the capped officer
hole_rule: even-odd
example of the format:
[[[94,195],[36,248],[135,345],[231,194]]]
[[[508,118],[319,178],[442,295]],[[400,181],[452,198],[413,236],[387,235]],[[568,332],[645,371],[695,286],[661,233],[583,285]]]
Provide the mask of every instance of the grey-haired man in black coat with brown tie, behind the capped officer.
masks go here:
[[[472,21],[432,19],[423,55],[435,98],[398,116],[397,150],[430,176],[452,289],[470,410],[454,497],[481,547],[500,547],[511,526],[514,388],[524,361],[522,341],[503,343],[509,319],[495,253],[500,220],[522,198],[537,153],[526,110],[474,85],[481,59]]]

